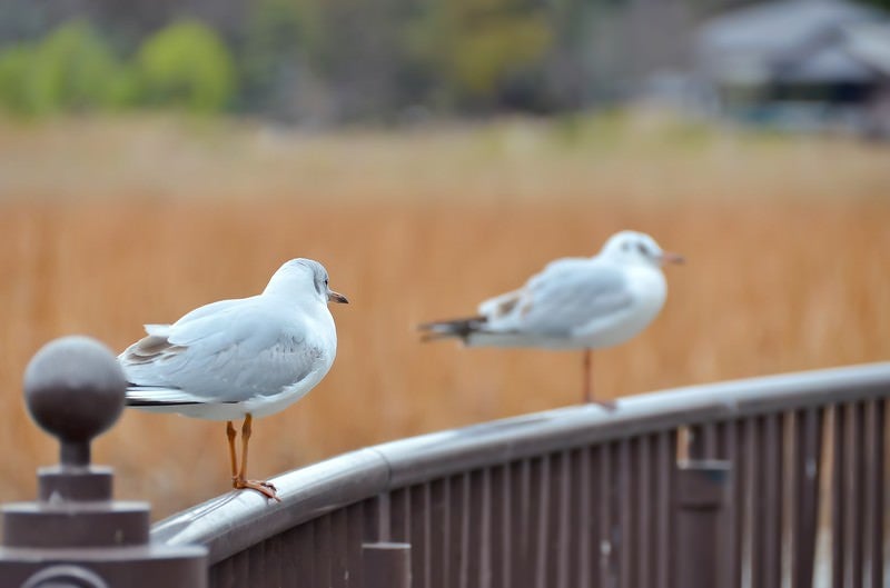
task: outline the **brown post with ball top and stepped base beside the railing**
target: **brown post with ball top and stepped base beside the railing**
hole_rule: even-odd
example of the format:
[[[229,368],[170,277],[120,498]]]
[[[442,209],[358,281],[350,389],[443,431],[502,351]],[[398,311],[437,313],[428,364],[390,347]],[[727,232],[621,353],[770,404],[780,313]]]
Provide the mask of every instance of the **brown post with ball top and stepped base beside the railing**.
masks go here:
[[[90,444],[120,416],[126,387],[111,351],[87,337],[52,341],[31,359],[26,402],[59,439],[60,464],[38,470],[36,502],[2,507],[0,586],[207,586],[207,550],[149,544],[148,505],[112,500],[111,469],[90,464]]]

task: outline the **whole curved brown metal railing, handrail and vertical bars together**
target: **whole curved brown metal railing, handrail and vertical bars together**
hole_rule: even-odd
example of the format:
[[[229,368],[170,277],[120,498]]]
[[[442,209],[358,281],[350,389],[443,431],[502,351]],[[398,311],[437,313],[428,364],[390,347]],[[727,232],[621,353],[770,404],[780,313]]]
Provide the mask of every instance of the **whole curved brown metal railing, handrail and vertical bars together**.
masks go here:
[[[231,492],[151,537],[208,547],[215,587],[881,588],[888,396],[876,363],[527,415],[346,454],[276,478],[281,504]],[[678,457],[720,462],[690,478]]]

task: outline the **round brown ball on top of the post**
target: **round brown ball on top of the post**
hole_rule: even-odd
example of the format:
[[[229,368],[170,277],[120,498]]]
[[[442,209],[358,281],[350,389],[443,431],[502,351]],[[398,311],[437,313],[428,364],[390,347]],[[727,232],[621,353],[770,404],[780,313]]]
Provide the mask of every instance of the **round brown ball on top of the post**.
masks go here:
[[[120,417],[127,378],[117,358],[90,337],[44,345],[24,370],[31,417],[62,442],[85,444]]]

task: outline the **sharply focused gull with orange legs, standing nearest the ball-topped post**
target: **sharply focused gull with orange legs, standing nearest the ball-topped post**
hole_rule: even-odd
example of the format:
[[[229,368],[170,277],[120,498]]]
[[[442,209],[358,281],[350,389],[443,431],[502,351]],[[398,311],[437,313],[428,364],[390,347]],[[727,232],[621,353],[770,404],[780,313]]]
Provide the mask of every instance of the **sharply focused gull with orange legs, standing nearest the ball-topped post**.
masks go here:
[[[278,500],[271,484],[247,479],[251,423],[303,398],[330,369],[337,332],[328,302],[348,300],[328,287],[320,263],[291,259],[260,295],[202,306],[172,325],[146,325],[148,336],[118,357],[130,382],[127,406],[227,421],[233,487]],[[231,423],[238,418],[240,469]]]

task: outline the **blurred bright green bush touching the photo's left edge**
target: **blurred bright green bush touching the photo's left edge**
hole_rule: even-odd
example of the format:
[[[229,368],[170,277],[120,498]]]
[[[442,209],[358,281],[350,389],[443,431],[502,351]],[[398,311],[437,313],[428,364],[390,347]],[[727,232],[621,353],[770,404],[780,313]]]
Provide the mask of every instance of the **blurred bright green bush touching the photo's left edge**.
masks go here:
[[[39,44],[0,53],[0,102],[13,113],[32,117],[107,110],[126,102],[126,77],[92,27],[69,22]]]

